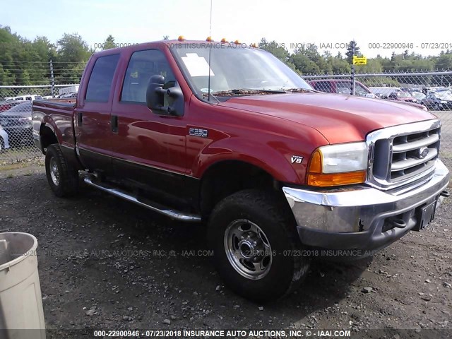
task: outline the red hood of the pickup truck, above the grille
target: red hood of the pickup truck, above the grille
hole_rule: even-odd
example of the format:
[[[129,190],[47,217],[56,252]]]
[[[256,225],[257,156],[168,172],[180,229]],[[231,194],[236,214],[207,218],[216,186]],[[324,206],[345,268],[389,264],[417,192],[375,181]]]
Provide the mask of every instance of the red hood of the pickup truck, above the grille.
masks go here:
[[[330,143],[362,141],[376,129],[436,118],[403,103],[326,93],[232,97],[219,105],[278,117],[283,124],[309,126]]]

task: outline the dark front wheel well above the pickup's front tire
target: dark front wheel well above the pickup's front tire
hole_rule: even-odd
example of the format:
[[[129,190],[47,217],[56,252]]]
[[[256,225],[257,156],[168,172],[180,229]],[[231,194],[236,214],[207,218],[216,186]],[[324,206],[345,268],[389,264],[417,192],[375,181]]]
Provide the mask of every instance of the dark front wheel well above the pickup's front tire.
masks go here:
[[[259,167],[237,160],[219,162],[207,169],[201,179],[201,215],[208,217],[220,200],[237,191],[265,189],[279,192],[279,187],[279,182]]]

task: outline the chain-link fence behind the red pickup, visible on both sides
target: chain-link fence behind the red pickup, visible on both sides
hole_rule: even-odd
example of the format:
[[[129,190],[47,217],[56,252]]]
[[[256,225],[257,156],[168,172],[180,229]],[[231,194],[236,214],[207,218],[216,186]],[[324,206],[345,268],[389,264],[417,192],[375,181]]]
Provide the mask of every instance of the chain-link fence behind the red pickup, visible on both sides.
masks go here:
[[[352,76],[304,75],[315,90],[350,94]],[[42,158],[32,141],[32,100],[74,97],[78,85],[0,86],[0,168]],[[53,95],[52,95],[53,93]],[[443,122],[441,159],[452,169],[452,71],[355,74],[355,95],[425,107]]]

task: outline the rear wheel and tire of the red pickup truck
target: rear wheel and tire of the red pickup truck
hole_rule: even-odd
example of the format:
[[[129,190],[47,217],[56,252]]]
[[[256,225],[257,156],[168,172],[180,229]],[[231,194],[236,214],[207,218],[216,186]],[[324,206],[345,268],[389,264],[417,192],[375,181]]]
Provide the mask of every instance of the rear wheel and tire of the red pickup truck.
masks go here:
[[[47,182],[56,196],[72,196],[77,193],[78,170],[66,162],[58,144],[49,145],[46,150],[45,172]]]

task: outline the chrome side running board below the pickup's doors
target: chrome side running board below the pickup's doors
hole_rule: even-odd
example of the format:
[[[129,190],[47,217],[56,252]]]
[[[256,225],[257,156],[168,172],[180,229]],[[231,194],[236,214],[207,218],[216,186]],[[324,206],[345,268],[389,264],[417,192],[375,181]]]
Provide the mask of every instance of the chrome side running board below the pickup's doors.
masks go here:
[[[86,184],[93,186],[96,189],[100,189],[101,191],[105,191],[119,198],[123,198],[124,200],[130,201],[131,203],[136,203],[137,205],[148,208],[149,210],[153,210],[154,212],[167,215],[169,218],[186,222],[201,222],[200,215],[191,213],[182,213],[179,210],[167,208],[158,203],[154,203],[153,201],[149,201],[148,199],[131,196],[131,194],[121,189],[117,189],[104,183],[93,182],[92,177],[89,176],[85,177],[84,181]]]

